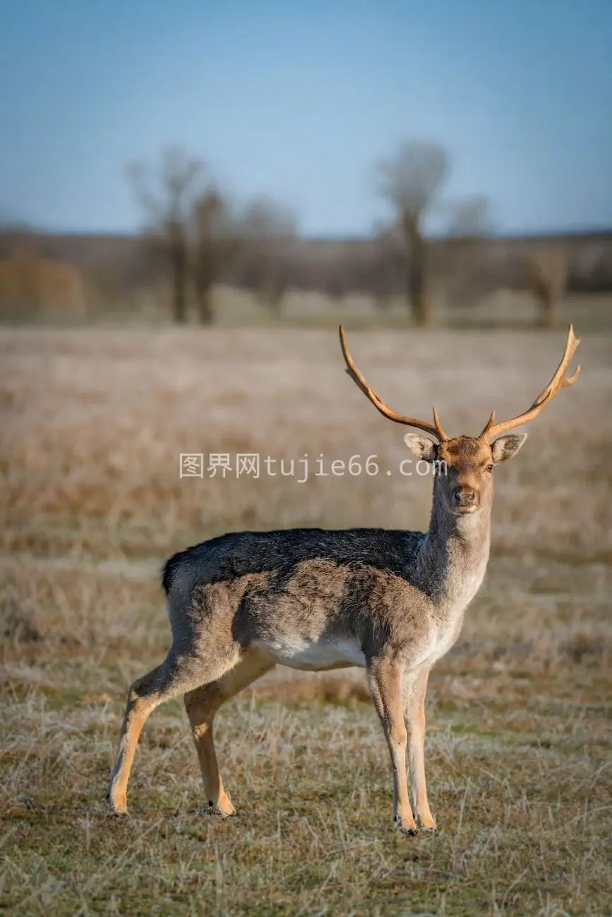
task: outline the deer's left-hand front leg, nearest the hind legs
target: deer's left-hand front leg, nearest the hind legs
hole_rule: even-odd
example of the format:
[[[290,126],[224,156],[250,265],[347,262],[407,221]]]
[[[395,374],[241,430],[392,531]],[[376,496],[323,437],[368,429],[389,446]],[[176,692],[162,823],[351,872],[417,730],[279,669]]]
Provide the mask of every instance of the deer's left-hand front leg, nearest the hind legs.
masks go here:
[[[394,781],[395,825],[403,834],[417,834],[406,776],[406,724],[402,702],[402,667],[394,658],[371,659],[368,684],[389,746]]]

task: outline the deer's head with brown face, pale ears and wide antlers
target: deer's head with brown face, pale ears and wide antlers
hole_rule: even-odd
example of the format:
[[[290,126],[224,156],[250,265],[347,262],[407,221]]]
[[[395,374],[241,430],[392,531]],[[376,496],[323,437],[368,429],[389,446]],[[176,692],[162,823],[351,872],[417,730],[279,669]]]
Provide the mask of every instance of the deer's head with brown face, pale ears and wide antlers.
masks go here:
[[[416,417],[397,414],[388,407],[382,398],[374,392],[372,386],[357,369],[347,346],[344,329],[339,328],[340,347],[344,356],[347,373],[356,382],[374,407],[395,424],[405,424],[424,430],[428,436],[407,433],[404,437],[406,446],[417,458],[428,461],[434,466],[435,491],[445,508],[453,515],[477,513],[484,507],[490,507],[493,500],[493,470],[495,465],[516,456],[518,449],[527,439],[526,433],[498,436],[515,426],[528,424],[540,414],[540,411],[567,385],[572,385],[578,378],[580,366],[572,376],[565,376],[580,338],[573,334],[570,325],[562,360],[551,381],[540,392],[533,404],[523,414],[517,414],[510,420],[495,424],[495,411],[489,417],[479,436],[447,436],[440,424],[436,408],[433,409],[433,424]]]

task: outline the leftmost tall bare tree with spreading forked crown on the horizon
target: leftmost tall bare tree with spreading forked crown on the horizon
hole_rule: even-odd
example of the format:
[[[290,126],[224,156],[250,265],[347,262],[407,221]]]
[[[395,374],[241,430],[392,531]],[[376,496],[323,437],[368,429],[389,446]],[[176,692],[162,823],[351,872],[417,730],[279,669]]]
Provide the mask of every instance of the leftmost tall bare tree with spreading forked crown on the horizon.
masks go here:
[[[128,169],[148,217],[151,247],[165,257],[172,272],[172,314],[179,323],[187,320],[189,231],[203,171],[201,160],[178,147],[165,150],[157,169],[151,170],[144,162]]]

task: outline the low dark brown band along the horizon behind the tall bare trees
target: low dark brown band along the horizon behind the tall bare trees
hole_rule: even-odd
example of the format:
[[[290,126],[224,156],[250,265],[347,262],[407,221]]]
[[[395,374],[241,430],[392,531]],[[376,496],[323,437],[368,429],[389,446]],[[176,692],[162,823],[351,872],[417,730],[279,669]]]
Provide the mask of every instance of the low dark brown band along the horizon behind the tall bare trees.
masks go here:
[[[432,283],[447,302],[477,303],[498,289],[531,289],[545,304],[564,291],[612,290],[612,230],[539,237],[441,238],[428,241]],[[265,239],[228,260],[217,282],[263,294],[273,306],[290,289],[340,300],[370,294],[377,304],[406,291],[411,263],[391,236]],[[547,272],[548,271],[548,274]],[[0,310],[113,308],[155,291],[165,259],[146,236],[0,233]],[[562,284],[562,291],[552,290]]]

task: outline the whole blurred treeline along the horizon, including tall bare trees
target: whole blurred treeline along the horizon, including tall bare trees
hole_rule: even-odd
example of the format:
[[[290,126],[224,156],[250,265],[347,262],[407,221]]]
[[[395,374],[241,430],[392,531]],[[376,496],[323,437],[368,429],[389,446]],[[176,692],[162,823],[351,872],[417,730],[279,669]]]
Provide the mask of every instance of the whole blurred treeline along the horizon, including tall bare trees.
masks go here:
[[[128,167],[142,214],[138,236],[0,233],[0,315],[50,308],[168,308],[177,324],[217,318],[221,285],[254,294],[274,316],[290,291],[341,303],[365,293],[379,309],[397,298],[428,326],[434,309],[478,304],[498,290],[529,290],[536,322],[557,324],[569,291],[612,290],[612,229],[530,238],[495,235],[483,193],[448,193],[452,157],[440,143],[404,138],[373,163],[373,193],[387,210],[372,238],[313,239],[286,202],[222,189],[206,160],[173,146]],[[440,238],[426,232],[438,215]]]

